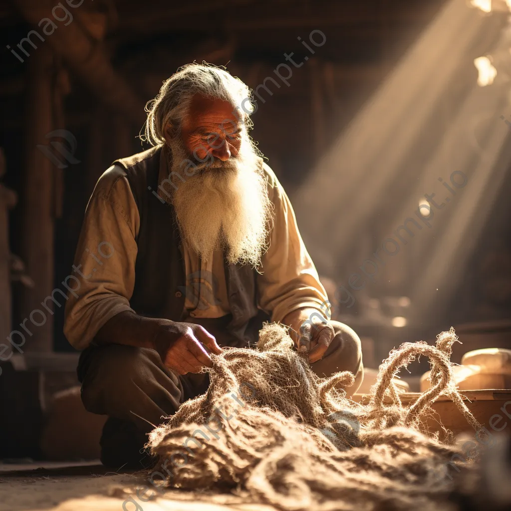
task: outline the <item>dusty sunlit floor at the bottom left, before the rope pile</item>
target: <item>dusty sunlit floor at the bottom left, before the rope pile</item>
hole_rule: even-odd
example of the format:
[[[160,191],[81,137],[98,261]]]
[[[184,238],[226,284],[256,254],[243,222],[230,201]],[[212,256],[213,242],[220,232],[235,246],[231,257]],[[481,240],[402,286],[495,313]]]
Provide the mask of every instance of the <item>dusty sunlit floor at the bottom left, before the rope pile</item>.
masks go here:
[[[98,462],[0,462],[0,511],[273,511],[261,505],[241,504],[234,496],[167,492],[148,502],[133,494],[143,483],[140,474],[115,473]],[[125,493],[125,491],[128,493]],[[144,495],[142,495],[144,496]],[[200,498],[201,502],[198,501]]]

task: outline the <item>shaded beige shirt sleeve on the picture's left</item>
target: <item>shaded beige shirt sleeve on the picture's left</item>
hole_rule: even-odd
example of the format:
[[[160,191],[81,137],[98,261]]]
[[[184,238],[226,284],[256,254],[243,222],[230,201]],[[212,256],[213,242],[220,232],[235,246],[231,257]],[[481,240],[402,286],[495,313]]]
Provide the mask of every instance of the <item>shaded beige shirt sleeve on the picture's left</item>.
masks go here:
[[[64,334],[83,350],[100,328],[131,311],[140,228],[138,208],[124,169],[110,167],[98,180],[85,211],[69,278]]]

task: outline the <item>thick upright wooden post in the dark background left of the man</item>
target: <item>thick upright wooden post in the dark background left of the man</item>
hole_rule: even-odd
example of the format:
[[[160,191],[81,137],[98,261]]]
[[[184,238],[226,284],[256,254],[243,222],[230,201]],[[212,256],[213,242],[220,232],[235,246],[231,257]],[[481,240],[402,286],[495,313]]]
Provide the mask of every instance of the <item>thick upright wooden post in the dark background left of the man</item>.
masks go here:
[[[54,196],[53,169],[38,144],[47,145],[45,135],[52,131],[53,56],[48,44],[41,45],[30,57],[27,84],[26,173],[23,197],[22,254],[27,273],[34,280],[33,289],[25,291],[22,321],[32,335],[25,335],[24,352],[50,352],[53,349],[53,314],[41,302],[54,289]],[[59,296],[58,294],[56,296]],[[61,298],[63,301],[63,298]],[[48,306],[53,306],[48,300]],[[19,343],[19,339],[15,342]]]

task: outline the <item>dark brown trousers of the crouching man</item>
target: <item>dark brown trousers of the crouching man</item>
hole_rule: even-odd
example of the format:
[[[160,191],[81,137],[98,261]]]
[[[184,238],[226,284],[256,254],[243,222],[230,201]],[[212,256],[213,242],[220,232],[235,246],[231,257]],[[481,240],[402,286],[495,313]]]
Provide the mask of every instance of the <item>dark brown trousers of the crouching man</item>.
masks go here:
[[[355,385],[347,389],[351,395],[363,379],[360,339],[345,324],[337,321],[332,321],[332,324],[335,337],[323,358],[313,363],[311,368],[320,377],[337,371],[351,371],[356,377]],[[204,327],[207,330],[207,326]],[[226,345],[218,330],[215,334],[219,345]],[[89,346],[80,356],[78,378],[82,383],[85,408],[113,418],[113,422],[105,425],[105,429],[110,429],[107,436],[117,437],[121,444],[126,438],[124,441],[139,451],[147,442],[147,433],[153,429],[152,425],[163,423],[164,418],[172,415],[181,403],[205,392],[209,384],[207,373],[177,375],[163,365],[154,350],[121,344]],[[124,428],[126,435],[123,437],[116,433],[115,428]],[[105,434],[104,430],[103,451],[109,441]],[[102,460],[105,462],[105,459]],[[118,464],[118,461],[105,464]]]

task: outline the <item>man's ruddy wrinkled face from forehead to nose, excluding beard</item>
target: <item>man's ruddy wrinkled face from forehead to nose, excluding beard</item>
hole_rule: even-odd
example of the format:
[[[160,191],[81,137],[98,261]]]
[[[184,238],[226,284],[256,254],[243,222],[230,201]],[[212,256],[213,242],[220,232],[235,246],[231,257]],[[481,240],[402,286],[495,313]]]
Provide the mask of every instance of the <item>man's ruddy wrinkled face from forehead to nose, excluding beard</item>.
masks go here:
[[[242,130],[233,113],[233,105],[220,99],[195,96],[181,127],[181,141],[191,160],[203,167],[228,167],[230,158],[236,158],[241,147]],[[201,169],[202,170],[202,169]]]

